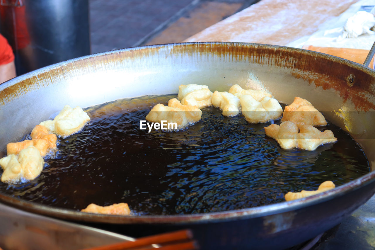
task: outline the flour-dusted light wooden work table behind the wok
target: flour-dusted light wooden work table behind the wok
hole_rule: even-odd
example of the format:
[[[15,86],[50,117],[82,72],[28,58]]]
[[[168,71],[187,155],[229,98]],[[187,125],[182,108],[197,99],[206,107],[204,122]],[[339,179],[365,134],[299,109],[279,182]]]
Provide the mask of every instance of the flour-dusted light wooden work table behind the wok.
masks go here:
[[[286,45],[311,35],[356,0],[261,0],[183,42],[255,42]]]

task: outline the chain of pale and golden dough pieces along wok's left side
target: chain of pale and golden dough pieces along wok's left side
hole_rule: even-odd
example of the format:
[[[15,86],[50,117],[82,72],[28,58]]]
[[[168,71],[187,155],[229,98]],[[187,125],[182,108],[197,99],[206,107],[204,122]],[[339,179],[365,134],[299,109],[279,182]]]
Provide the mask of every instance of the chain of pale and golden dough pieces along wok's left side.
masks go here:
[[[7,157],[0,159],[0,166],[4,170],[1,181],[17,183],[35,179],[43,170],[43,157],[56,149],[57,137],[49,132],[69,136],[80,130],[88,120],[90,117],[82,108],[73,109],[66,105],[53,121],[36,125],[31,131],[31,140],[8,143]]]

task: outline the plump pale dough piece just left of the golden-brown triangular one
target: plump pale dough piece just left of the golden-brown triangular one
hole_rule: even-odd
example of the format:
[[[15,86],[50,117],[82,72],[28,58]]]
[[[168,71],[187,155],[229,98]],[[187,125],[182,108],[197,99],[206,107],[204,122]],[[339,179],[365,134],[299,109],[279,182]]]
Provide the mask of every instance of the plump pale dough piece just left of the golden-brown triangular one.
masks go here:
[[[260,102],[251,95],[240,96],[242,114],[250,123],[267,122],[277,119],[282,114],[282,107],[274,98],[263,97]]]

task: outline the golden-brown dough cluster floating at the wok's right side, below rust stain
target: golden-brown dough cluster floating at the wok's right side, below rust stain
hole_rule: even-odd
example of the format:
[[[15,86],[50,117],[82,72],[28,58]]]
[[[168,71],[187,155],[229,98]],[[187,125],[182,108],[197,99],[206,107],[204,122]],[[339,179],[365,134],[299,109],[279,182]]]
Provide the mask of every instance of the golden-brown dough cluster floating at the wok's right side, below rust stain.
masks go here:
[[[301,148],[315,150],[318,146],[336,142],[332,131],[319,131],[314,126],[327,125],[326,120],[312,104],[295,97],[291,105],[286,106],[281,124],[265,127],[266,135],[275,139],[281,148]]]

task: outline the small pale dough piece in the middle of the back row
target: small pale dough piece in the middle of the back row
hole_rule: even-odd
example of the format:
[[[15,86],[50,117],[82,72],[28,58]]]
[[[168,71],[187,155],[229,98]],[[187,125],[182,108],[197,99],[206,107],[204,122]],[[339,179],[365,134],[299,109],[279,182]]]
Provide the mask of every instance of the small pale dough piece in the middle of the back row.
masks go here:
[[[213,92],[212,105],[220,108],[223,116],[236,116],[240,113],[240,99],[228,92]]]

